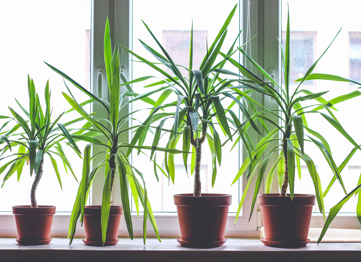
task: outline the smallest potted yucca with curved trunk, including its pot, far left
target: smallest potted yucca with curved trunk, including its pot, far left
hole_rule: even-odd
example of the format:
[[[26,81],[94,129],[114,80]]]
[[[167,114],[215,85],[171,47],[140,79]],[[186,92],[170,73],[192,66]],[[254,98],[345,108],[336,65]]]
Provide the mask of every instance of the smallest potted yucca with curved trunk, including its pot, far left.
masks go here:
[[[23,171],[24,164],[29,164],[30,176],[35,173],[35,179],[31,186],[30,200],[31,205],[17,205],[13,207],[13,213],[15,214],[16,226],[18,231],[18,239],[16,241],[22,245],[43,245],[48,244],[52,239],[49,238],[51,225],[53,221],[53,214],[55,214],[56,207],[47,205],[38,205],[36,202],[36,188],[43,175],[44,156],[47,154],[54,167],[56,176],[58,178],[60,187],[61,179],[60,173],[57,168],[57,162],[55,156],[60,157],[65,167],[68,167],[71,173],[74,172],[71,168],[70,162],[66,158],[60,142],[66,142],[75,151],[80,153],[79,148],[75,144],[74,139],[66,130],[66,126],[81,121],[83,118],[75,119],[62,125],[58,121],[62,117],[62,114],[57,116],[55,121],[51,122],[51,105],[49,81],[45,86],[45,107],[40,104],[39,96],[35,91],[34,81],[30,79],[28,75],[28,91],[29,91],[29,111],[27,111],[17,100],[19,107],[29,120],[25,120],[20,114],[18,114],[13,108],[10,108],[11,117],[17,124],[9,131],[2,132],[0,137],[0,144],[5,144],[1,149],[1,156],[8,150],[12,151],[15,147],[19,146],[18,152],[2,157],[3,160],[8,157],[13,159],[0,168],[0,173],[3,173],[6,168],[9,169],[6,172],[3,184],[9,179],[15,172],[17,172],[18,181]],[[45,110],[43,111],[44,108]],[[10,117],[2,117],[10,118]],[[10,119],[10,121],[12,121]],[[10,122],[6,122],[3,128]],[[57,127],[56,127],[57,125]],[[19,133],[18,129],[22,128]],[[84,130],[78,131],[75,134],[82,134]],[[80,156],[80,155],[79,155]],[[77,178],[75,177],[75,180]]]

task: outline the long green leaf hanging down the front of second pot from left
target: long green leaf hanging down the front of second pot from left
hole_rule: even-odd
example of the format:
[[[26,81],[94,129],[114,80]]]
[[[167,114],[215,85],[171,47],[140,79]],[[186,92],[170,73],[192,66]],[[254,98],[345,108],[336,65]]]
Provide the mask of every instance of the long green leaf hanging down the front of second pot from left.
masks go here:
[[[84,154],[85,155],[85,154]],[[110,212],[110,180],[112,179],[113,168],[110,168],[105,177],[104,187],[103,187],[103,197],[101,199],[101,241],[103,244],[106,239],[106,229],[108,227],[108,219]]]

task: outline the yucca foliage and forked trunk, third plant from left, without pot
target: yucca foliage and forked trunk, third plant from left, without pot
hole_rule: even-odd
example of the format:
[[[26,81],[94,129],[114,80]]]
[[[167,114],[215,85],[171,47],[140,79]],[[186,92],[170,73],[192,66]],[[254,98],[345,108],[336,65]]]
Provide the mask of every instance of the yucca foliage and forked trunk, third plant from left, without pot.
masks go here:
[[[255,128],[257,132],[260,132],[255,122],[251,119],[246,107],[239,100],[240,96],[238,96],[237,92],[239,91],[240,87],[244,87],[242,79],[239,79],[239,74],[233,74],[237,77],[236,79],[223,79],[219,77],[219,74],[229,72],[222,68],[223,65],[226,63],[227,59],[230,58],[237,51],[233,51],[233,49],[239,35],[236,37],[236,40],[227,52],[225,58],[222,59],[219,63],[215,63],[216,59],[220,57],[219,52],[227,35],[227,27],[234,15],[236,7],[237,5],[232,9],[221,30],[218,32],[216,39],[208,48],[199,69],[193,68],[192,26],[190,36],[189,67],[182,66],[182,68],[185,68],[188,72],[186,76],[181,73],[179,69],[181,66],[174,63],[173,59],[167,53],[165,48],[161,45],[160,41],[157,40],[155,35],[144,22],[144,26],[152,35],[153,39],[156,41],[158,47],[161,49],[164,55],[158,53],[155,49],[145,44],[142,40],[140,40],[140,42],[145,47],[145,49],[147,49],[156,59],[160,61],[160,63],[150,62],[147,59],[134,53],[133,51],[125,48],[135,58],[139,59],[140,62],[148,64],[151,68],[160,72],[167,78],[165,80],[145,86],[152,87],[164,85],[156,90],[136,96],[135,98],[131,99],[130,102],[157,93],[159,95],[156,103],[161,104],[164,103],[165,99],[171,93],[174,92],[174,94],[177,96],[177,101],[175,101],[174,103],[164,104],[164,106],[169,107],[168,109],[170,110],[168,110],[168,112],[163,112],[160,114],[153,114],[152,112],[147,118],[147,120],[143,122],[143,125],[151,125],[156,121],[160,121],[158,126],[155,128],[152,152],[150,155],[151,161],[153,160],[154,162],[154,170],[157,176],[155,149],[160,141],[164,123],[168,119],[173,118],[171,120],[173,121],[172,129],[164,130],[165,133],[163,133],[163,135],[169,133],[169,140],[166,144],[166,148],[175,148],[181,135],[183,151],[189,151],[190,146],[192,145],[193,154],[191,159],[191,173],[193,173],[194,171],[193,196],[201,196],[201,150],[202,144],[206,139],[208,139],[208,144],[212,153],[212,187],[214,185],[217,175],[216,163],[218,162],[218,164],[221,165],[222,143],[219,138],[217,128],[215,128],[216,125],[221,126],[224,134],[228,136],[228,140],[231,141],[234,135],[241,137],[243,141],[248,140],[248,137],[245,137],[242,132],[242,128],[246,125],[251,125],[253,128]],[[174,76],[162,70],[160,67],[157,66],[157,64],[161,64],[169,68],[171,72],[173,72]],[[141,77],[126,84],[141,82],[152,77],[154,76]],[[248,80],[245,81],[247,82]],[[235,83],[235,85],[233,83]],[[234,94],[236,94],[236,96],[234,96]],[[229,107],[225,107],[225,103],[222,103],[222,100],[225,98],[231,99],[231,101],[233,101]],[[229,104],[230,102],[228,102],[227,106]],[[231,110],[234,104],[238,104],[240,110],[244,114],[244,120],[242,123],[238,117],[238,109],[237,113]],[[130,143],[132,147],[128,149],[126,156],[129,156],[131,154],[132,149],[137,143],[139,146],[143,144],[145,136],[149,134],[148,131],[149,127],[138,128]],[[239,137],[236,140],[236,143],[239,141]],[[154,159],[152,159],[153,156]],[[186,172],[188,174],[187,158],[188,154],[184,153],[183,162],[186,168]],[[163,171],[163,173],[168,177],[168,179],[171,179],[171,181],[174,183],[174,154],[166,152],[164,156],[164,163],[166,172]],[[160,167],[158,166],[158,168]]]

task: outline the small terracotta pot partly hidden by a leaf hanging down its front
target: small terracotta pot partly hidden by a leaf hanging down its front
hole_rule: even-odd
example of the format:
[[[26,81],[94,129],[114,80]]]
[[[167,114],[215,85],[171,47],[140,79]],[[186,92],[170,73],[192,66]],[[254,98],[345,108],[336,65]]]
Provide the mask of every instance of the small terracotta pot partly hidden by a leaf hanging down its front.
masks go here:
[[[104,245],[118,243],[118,230],[123,208],[117,205],[110,206],[108,226],[106,227],[106,239]],[[101,205],[87,205],[84,209],[84,230],[87,245],[101,245]]]

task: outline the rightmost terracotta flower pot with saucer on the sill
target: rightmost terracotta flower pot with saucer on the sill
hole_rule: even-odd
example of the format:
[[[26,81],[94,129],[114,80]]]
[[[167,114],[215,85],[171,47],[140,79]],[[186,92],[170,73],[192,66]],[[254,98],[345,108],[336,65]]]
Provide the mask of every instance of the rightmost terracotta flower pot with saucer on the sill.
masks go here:
[[[295,194],[280,197],[279,194],[259,194],[258,204],[261,206],[265,245],[280,247],[305,246],[310,227],[315,195]],[[267,242],[268,241],[268,242]]]

